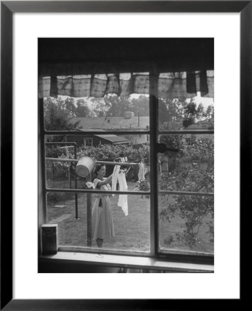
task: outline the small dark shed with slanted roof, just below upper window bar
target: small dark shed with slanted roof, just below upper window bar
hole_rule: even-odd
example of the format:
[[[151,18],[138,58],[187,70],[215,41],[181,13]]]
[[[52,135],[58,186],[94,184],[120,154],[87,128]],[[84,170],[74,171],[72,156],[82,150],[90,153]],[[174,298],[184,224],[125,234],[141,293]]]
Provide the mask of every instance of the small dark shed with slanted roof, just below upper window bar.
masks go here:
[[[111,134],[94,134],[97,129],[78,129],[82,131],[83,135],[66,135],[66,142],[76,142],[77,146],[84,147],[97,147],[99,144],[131,144],[132,142],[123,136],[111,135]],[[99,130],[102,131],[102,130]],[[106,131],[104,131],[106,132]]]

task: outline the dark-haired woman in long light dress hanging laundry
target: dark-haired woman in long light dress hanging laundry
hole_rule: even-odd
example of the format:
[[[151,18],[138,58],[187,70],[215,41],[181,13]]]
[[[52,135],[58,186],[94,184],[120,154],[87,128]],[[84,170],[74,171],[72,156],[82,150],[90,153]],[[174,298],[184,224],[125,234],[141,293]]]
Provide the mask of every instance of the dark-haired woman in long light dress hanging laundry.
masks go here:
[[[106,167],[104,164],[98,164],[93,170],[96,178],[93,180],[95,189],[109,191],[111,187],[112,175],[105,178]],[[114,224],[111,213],[111,203],[108,194],[95,194],[96,200],[93,203],[92,209],[92,234],[96,240],[98,247],[102,247],[105,238],[114,236]]]

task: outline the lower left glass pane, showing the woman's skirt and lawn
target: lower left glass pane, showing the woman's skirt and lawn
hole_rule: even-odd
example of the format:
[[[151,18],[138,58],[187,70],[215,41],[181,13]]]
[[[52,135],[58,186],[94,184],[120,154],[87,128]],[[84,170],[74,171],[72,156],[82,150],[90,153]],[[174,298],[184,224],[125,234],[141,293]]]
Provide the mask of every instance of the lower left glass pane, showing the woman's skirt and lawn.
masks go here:
[[[59,245],[98,249],[102,243],[102,249],[150,252],[150,200],[126,197],[127,212],[118,206],[118,195],[103,196],[99,207],[95,195],[50,192],[47,223],[57,223]]]

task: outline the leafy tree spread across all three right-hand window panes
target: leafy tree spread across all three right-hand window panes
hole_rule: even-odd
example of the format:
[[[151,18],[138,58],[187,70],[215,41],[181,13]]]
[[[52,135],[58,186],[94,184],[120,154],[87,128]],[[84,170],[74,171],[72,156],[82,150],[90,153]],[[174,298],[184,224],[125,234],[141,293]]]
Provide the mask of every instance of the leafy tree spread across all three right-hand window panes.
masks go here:
[[[159,100],[159,124],[163,129],[176,129],[177,122],[183,124],[183,128],[200,120],[213,118],[213,106],[208,106],[204,111],[202,104],[197,105],[193,100],[179,102],[177,100]],[[211,126],[211,123],[208,124]],[[210,128],[208,126],[208,129]],[[213,126],[213,124],[212,124]],[[170,246],[176,241],[182,242],[190,249],[196,247],[199,241],[199,229],[208,225],[209,241],[213,242],[214,227],[214,200],[213,196],[204,196],[204,192],[213,192],[213,140],[203,139],[186,142],[182,135],[161,135],[159,142],[170,148],[179,149],[179,153],[167,152],[169,158],[169,172],[162,173],[159,180],[159,189],[170,191],[202,192],[202,196],[164,196],[168,205],[159,214],[160,219],[172,223],[173,218],[180,217],[185,220],[183,229],[179,232],[171,232],[163,243]],[[186,159],[198,159],[204,162],[204,169],[190,169]]]

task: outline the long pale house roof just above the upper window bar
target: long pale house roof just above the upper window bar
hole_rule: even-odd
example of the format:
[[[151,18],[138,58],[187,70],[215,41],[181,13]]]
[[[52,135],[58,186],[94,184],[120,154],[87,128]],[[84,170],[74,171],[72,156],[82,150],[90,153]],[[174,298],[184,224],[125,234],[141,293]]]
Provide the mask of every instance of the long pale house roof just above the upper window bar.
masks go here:
[[[125,117],[73,117],[71,122],[80,122],[82,130],[84,129],[146,129],[146,126],[150,126],[150,117],[138,116],[125,119]],[[80,129],[81,130],[81,129]]]

